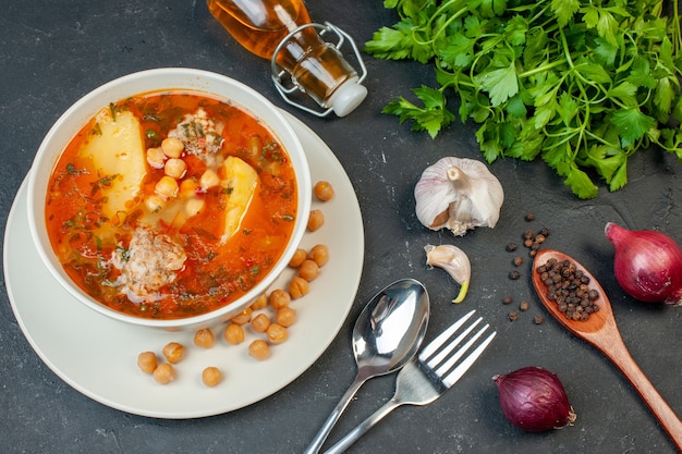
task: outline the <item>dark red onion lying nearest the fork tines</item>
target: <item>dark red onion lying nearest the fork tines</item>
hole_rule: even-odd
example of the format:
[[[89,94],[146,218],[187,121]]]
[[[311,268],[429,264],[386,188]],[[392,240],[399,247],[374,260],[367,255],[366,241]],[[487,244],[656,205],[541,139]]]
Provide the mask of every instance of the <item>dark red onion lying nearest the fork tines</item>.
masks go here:
[[[573,426],[576,415],[559,377],[541,367],[524,367],[492,377],[500,392],[502,413],[528,432]]]

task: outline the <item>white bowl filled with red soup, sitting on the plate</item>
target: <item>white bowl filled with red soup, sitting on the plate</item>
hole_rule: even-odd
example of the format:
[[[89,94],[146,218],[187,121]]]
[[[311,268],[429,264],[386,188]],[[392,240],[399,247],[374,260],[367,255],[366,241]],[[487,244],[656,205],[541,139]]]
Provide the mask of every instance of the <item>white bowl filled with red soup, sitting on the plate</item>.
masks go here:
[[[303,147],[267,99],[219,74],[158,69],[100,86],[54,123],[28,176],[28,221],[78,302],[127,323],[199,329],[281,274],[310,186]]]

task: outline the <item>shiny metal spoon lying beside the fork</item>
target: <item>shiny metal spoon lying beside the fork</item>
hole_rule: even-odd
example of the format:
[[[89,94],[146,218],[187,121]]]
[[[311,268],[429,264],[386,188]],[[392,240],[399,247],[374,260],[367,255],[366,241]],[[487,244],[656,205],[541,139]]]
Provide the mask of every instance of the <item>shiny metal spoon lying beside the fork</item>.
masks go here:
[[[428,316],[428,293],[414,279],[393,282],[367,303],[353,329],[353,352],[357,364],[355,380],[305,450],[306,454],[319,451],[365,381],[394,372],[414,356],[424,340]]]

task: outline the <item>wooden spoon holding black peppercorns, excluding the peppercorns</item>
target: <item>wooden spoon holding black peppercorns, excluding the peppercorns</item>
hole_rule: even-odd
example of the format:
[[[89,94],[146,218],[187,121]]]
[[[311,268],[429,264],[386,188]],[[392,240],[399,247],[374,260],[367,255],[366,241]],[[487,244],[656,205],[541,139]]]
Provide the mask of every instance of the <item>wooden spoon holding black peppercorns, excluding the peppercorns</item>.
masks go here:
[[[572,261],[576,269],[582,270],[585,275],[589,278],[589,289],[599,292],[599,298],[596,300],[599,310],[590,314],[587,320],[568,319],[563,312],[559,311],[557,303],[547,297],[547,286],[540,279],[540,273],[537,272],[537,268],[545,265],[550,258],[556,258],[560,261]],[[668,435],[678,446],[678,450],[682,452],[682,421],[680,421],[668,403],[661,397],[658,391],[656,391],[651,382],[632,358],[630,352],[628,352],[628,347],[616,326],[611,303],[595,277],[572,257],[558,250],[543,249],[535,256],[533,286],[535,286],[535,291],[547,310],[549,310],[564,328],[594,345],[623,372],[651,413],[654,413],[654,416],[656,416],[666,432],[668,432]]]

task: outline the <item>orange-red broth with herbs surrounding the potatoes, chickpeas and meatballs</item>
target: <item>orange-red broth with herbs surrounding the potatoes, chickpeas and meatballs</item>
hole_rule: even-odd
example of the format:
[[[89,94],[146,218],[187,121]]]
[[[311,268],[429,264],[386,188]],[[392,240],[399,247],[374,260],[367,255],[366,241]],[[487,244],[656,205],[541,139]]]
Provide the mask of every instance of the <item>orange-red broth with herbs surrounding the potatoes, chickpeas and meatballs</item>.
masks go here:
[[[186,253],[184,268],[176,279],[158,291],[158,300],[135,303],[112,282],[120,271],[107,266],[117,248],[126,248],[137,220],[144,212],[143,199],[154,193],[163,170],[147,169],[142,191],[120,219],[101,214],[100,189],[111,175],[96,175],[90,160],[78,157],[95,119],[84,126],[57,162],[48,186],[46,221],[52,247],[71,279],[87,294],[108,307],[143,318],[178,319],[205,314],[234,302],[256,285],[277,262],[291,237],[296,217],[297,188],[293,167],[266,125],[236,106],[194,91],[151,93],[115,103],[137,116],[145,134],[145,146],[158,147],[168,132],[186,113],[203,108],[208,116],[224,125],[219,151],[243,159],[258,174],[258,184],[239,230],[220,244],[227,194],[221,187],[197,192],[205,208],[176,226],[160,223],[155,229],[169,234]],[[264,144],[254,154],[253,137]],[[187,171],[182,180],[198,180],[206,164],[184,157]],[[180,183],[180,181],[179,181]],[[126,208],[127,205],[126,205]],[[109,240],[98,235],[102,225],[111,229]],[[107,235],[105,235],[107,236]]]

